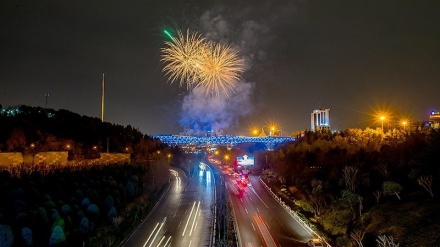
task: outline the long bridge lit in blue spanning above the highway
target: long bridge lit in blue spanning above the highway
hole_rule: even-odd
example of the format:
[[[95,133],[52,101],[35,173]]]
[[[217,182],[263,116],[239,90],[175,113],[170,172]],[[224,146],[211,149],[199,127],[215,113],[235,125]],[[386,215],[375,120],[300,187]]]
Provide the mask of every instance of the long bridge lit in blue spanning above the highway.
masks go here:
[[[278,144],[294,141],[293,137],[282,136],[180,136],[180,135],[158,135],[153,136],[170,146],[235,146],[241,143],[263,143],[267,149],[273,149]]]

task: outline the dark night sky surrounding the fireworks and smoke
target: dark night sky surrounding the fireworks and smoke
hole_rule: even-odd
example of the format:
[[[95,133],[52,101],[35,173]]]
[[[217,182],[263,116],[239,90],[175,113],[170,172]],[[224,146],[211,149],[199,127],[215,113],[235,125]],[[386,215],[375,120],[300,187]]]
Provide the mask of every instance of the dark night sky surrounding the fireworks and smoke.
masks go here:
[[[245,103],[226,134],[276,121],[310,128],[375,126],[374,114],[412,121],[440,110],[440,1],[1,1],[0,104],[67,109],[146,134],[182,131],[189,92],[162,72],[163,27],[227,42],[246,61]],[[240,94],[234,97],[240,97]],[[246,108],[246,109],[244,109]]]

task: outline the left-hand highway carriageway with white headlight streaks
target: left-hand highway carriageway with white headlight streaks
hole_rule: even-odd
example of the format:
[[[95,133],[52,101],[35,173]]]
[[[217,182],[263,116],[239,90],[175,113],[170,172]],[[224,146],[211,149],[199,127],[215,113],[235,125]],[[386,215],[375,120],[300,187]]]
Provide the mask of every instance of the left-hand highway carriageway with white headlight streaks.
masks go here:
[[[168,192],[121,246],[210,246],[214,205],[210,170],[199,167],[189,179],[177,169],[170,171]]]

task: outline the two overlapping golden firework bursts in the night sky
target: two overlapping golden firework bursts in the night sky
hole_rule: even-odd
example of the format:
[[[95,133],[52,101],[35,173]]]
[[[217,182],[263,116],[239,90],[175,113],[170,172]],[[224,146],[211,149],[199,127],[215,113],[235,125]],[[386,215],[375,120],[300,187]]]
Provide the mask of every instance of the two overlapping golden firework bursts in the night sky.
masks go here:
[[[198,33],[178,31],[162,48],[163,69],[168,80],[186,84],[187,88],[203,89],[206,95],[228,95],[240,80],[243,62],[231,47],[206,41]]]

